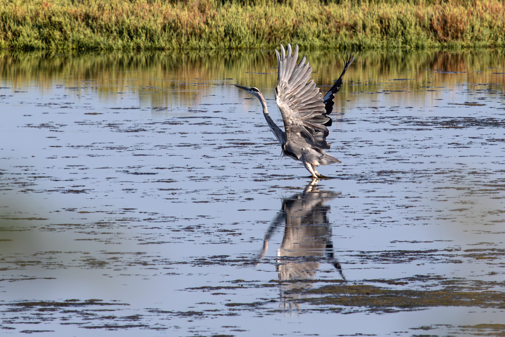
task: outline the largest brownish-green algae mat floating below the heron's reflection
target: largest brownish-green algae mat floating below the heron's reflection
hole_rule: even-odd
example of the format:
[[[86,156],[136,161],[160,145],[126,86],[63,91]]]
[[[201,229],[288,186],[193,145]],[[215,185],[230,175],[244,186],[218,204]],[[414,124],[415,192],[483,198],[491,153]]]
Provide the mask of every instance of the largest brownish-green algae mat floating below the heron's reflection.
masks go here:
[[[413,279],[413,278],[410,278]],[[432,278],[435,280],[436,278]],[[442,279],[432,284],[435,290],[388,288],[370,284],[328,284],[318,288],[290,288],[283,292],[284,301],[318,306],[350,307],[350,312],[391,313],[432,307],[480,307],[505,309],[503,282]],[[374,280],[393,285],[406,285],[403,279]],[[303,281],[305,282],[305,281]],[[317,296],[317,297],[316,297]],[[361,310],[356,307],[362,308]],[[335,310],[335,309],[328,309]],[[339,312],[349,311],[339,308]]]

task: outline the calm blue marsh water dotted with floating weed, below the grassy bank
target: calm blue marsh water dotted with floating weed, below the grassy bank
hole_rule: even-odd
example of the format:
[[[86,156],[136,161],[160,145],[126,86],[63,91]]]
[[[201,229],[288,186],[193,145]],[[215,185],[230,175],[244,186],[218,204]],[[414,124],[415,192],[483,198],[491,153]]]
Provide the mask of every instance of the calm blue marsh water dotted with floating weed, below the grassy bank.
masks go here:
[[[231,85],[279,120],[275,67],[2,52],[2,332],[505,334],[505,57],[359,53],[319,181]]]

